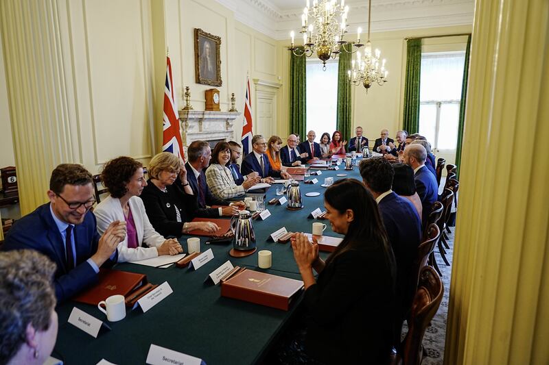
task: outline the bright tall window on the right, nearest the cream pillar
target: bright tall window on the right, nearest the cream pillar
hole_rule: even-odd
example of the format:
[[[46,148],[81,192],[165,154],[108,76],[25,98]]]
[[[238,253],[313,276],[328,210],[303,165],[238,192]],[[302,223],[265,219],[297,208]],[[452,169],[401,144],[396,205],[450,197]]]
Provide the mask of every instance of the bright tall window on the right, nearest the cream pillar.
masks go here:
[[[419,134],[433,149],[455,153],[464,62],[465,51],[421,55]]]

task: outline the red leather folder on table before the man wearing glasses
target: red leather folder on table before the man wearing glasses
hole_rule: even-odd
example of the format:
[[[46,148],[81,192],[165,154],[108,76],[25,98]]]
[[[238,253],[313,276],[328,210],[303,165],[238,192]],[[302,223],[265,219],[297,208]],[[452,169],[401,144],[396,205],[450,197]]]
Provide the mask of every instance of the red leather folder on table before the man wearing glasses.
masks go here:
[[[134,290],[137,292],[141,286],[147,284],[146,275],[128,273],[121,270],[102,268],[98,276],[99,281],[97,281],[97,284],[82,291],[76,297],[73,297],[73,300],[80,303],[97,305],[97,303],[104,301],[111,295],[121,294],[124,297],[131,296]],[[146,292],[142,294],[144,295]]]

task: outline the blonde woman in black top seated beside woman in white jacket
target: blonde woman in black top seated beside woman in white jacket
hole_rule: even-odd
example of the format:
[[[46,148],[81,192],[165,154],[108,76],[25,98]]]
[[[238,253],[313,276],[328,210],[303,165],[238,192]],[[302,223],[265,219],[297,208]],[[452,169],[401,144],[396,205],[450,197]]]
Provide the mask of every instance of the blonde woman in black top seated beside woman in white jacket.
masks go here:
[[[159,234],[179,237],[194,229],[211,234],[218,231],[213,222],[191,222],[198,210],[198,200],[180,158],[170,152],[159,153],[149,162],[149,176],[141,199],[152,227]]]

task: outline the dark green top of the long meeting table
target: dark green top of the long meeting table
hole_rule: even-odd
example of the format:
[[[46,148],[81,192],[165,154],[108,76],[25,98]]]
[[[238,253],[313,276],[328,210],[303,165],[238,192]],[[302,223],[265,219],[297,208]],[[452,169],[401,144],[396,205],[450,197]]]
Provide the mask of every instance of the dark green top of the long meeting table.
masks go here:
[[[73,307],[105,320],[106,317],[97,307],[68,301],[57,308],[59,316],[59,334],[52,356],[60,358],[65,364],[97,364],[101,359],[115,364],[144,364],[150,344],[156,344],[174,351],[202,358],[207,364],[255,364],[265,355],[270,344],[277,339],[281,329],[299,306],[301,297],[288,312],[263,305],[248,303],[221,297],[220,287],[207,281],[209,273],[227,260],[234,266],[246,266],[264,273],[301,279],[294,262],[290,243],[268,242],[268,237],[281,227],[288,231],[311,232],[316,220],[307,216],[316,208],[324,210],[323,188],[325,177],[334,177],[334,181],[344,177],[360,179],[358,167],[345,171],[344,163],[339,171],[322,171],[316,184],[300,184],[304,208],[290,211],[286,205],[267,205],[276,197],[276,184],[266,192],[266,209],[271,216],[265,221],[253,221],[257,239],[257,251],[272,251],[272,267],[264,270],[257,267],[257,252],[248,257],[229,256],[232,244],[205,244],[206,238],[200,238],[202,252],[211,248],[214,259],[198,268],[152,268],[137,264],[118,264],[116,269],[147,275],[153,284],[167,281],[174,292],[146,313],[134,310],[124,320],[108,323],[111,331],[101,332],[93,338],[67,323]],[[320,192],[318,197],[305,197],[306,192]],[[328,221],[325,235],[338,236],[331,231]],[[187,252],[187,238],[180,242]],[[320,253],[325,258],[327,253]]]

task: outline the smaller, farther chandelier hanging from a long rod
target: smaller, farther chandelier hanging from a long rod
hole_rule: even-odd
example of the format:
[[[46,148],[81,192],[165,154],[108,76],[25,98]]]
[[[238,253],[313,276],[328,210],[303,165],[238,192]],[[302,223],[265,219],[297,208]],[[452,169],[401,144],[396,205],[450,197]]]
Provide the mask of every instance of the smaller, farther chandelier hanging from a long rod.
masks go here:
[[[354,86],[362,85],[368,89],[374,84],[383,85],[387,81],[388,71],[385,69],[385,59],[379,62],[381,51],[375,50],[372,54],[372,43],[370,42],[370,25],[372,13],[372,0],[368,5],[368,41],[364,48],[364,56],[356,53],[356,60],[351,60],[351,70],[347,71],[347,78]]]

